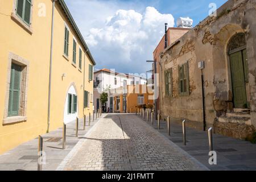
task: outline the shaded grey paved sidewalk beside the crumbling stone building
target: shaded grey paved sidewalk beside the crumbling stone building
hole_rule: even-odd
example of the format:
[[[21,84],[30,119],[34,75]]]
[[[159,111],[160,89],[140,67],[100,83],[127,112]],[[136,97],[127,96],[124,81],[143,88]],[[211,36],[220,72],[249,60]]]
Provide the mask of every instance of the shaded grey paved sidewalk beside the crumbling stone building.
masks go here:
[[[137,114],[137,117],[139,117],[139,114]],[[141,118],[143,119],[143,117]],[[256,144],[213,134],[213,150],[217,152],[217,165],[211,166],[208,162],[208,133],[187,127],[187,146],[184,146],[182,121],[180,121],[180,124],[177,124],[177,122],[171,118],[171,137],[168,136],[166,121],[160,121],[159,132],[210,170],[256,170]],[[149,116],[148,125],[152,127],[151,116]],[[154,122],[154,129],[158,130],[157,121]]]

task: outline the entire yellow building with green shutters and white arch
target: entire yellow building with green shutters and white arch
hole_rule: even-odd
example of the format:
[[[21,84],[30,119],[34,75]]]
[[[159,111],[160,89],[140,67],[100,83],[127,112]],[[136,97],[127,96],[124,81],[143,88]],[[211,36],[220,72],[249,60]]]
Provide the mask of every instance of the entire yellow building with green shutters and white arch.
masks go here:
[[[63,0],[0,1],[0,154],[93,112],[96,64]]]

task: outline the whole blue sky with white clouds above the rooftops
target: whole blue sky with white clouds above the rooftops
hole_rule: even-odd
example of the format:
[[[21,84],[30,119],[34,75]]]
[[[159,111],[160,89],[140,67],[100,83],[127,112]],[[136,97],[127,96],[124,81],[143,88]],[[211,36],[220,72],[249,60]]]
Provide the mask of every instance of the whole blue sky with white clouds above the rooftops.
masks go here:
[[[164,23],[193,19],[193,26],[208,16],[209,4],[217,8],[226,0],[65,0],[88,44],[96,68],[144,73],[150,64]]]

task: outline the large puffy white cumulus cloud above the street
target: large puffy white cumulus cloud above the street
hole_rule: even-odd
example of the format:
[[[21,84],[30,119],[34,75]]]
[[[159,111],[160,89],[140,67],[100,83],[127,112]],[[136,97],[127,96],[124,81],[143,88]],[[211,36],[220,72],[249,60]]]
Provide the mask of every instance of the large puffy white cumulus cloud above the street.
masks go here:
[[[117,10],[105,18],[101,27],[90,28],[85,40],[97,61],[97,68],[115,68],[127,73],[142,73],[150,66],[152,52],[164,35],[164,23],[174,26],[171,14],[161,14],[154,7],[144,13]]]

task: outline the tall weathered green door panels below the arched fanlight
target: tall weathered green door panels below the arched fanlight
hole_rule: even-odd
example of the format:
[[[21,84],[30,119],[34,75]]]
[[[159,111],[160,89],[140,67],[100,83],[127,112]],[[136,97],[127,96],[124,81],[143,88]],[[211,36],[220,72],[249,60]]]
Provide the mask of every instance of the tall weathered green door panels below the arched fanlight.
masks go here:
[[[243,67],[242,51],[230,55],[233,100],[235,108],[247,107],[245,88],[245,68]]]

